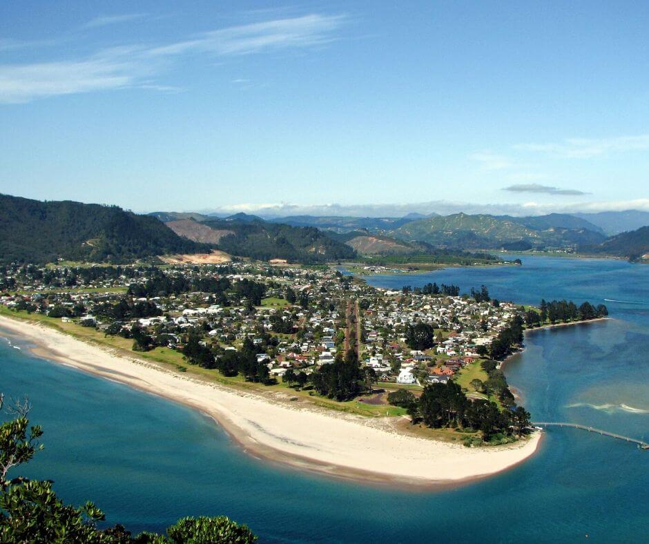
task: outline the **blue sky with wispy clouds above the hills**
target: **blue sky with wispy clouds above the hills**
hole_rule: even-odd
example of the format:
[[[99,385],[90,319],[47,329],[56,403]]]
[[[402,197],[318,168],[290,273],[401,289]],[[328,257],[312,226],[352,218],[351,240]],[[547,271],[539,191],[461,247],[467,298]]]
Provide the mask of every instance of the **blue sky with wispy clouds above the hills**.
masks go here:
[[[4,2],[0,192],[649,211],[647,28],[646,2]]]

